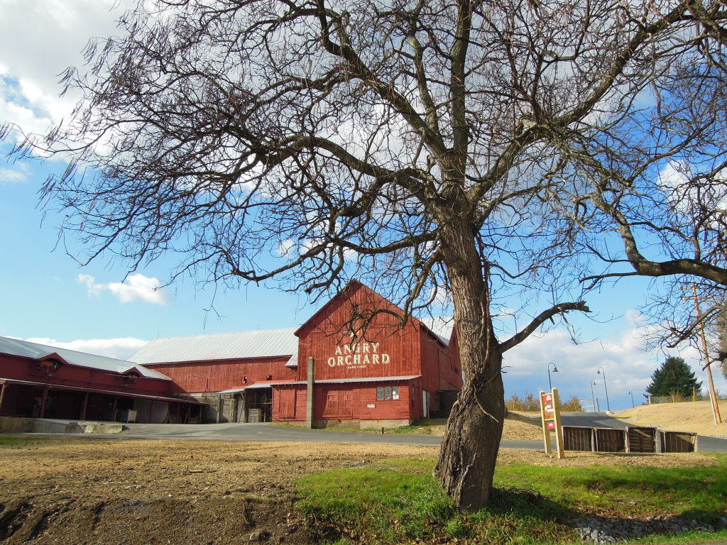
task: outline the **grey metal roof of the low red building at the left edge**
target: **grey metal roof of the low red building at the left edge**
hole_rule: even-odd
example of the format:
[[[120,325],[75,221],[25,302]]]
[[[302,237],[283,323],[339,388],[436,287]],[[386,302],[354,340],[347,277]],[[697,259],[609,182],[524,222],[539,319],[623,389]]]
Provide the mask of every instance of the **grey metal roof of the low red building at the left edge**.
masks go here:
[[[86,352],[76,352],[76,350],[68,350],[67,348],[49,347],[45,344],[36,344],[34,342],[21,341],[20,339],[10,339],[9,337],[0,337],[0,354],[9,354],[21,356],[23,358],[31,358],[33,360],[42,360],[52,355],[58,355],[65,363],[71,366],[89,367],[92,369],[100,369],[101,371],[110,371],[112,373],[123,374],[126,371],[136,370],[142,376],[150,379],[171,380],[165,376],[144,366],[136,363],[129,363],[124,360],[116,360],[114,358],[106,358],[105,356],[97,356],[95,354],[87,354]]]

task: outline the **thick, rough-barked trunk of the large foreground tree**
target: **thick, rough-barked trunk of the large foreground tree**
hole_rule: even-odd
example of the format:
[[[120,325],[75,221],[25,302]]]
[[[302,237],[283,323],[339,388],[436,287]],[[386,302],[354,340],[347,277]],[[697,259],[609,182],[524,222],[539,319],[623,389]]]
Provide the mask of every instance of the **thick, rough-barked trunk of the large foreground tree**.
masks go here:
[[[448,227],[443,228],[441,248],[465,386],[447,421],[434,475],[459,509],[473,512],[492,493],[505,413],[502,350],[490,319],[487,264],[478,254],[475,236],[466,221]]]

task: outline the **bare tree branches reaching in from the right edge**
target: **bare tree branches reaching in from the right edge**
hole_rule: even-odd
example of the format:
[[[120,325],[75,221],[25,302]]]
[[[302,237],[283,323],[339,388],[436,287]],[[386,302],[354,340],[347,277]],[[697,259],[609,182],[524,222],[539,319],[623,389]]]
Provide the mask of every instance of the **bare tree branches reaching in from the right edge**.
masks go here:
[[[620,94],[607,124],[586,132],[590,139],[561,146],[571,159],[565,176],[592,184],[571,193],[594,211],[583,214],[579,241],[608,264],[584,280],[593,287],[661,279],[645,308],[659,325],[654,339],[670,348],[701,345],[699,331],[726,308],[726,12],[720,2],[688,3],[691,25],[662,36],[642,58],[651,76]]]

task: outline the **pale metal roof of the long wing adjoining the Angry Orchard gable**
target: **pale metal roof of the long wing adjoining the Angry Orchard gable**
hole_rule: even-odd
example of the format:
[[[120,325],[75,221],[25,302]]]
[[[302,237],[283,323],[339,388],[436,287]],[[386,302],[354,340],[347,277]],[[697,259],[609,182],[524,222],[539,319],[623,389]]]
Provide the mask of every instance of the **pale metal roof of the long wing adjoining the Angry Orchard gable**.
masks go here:
[[[296,329],[265,329],[156,339],[134,353],[129,361],[145,364],[270,356],[297,357],[298,338],[294,335]]]

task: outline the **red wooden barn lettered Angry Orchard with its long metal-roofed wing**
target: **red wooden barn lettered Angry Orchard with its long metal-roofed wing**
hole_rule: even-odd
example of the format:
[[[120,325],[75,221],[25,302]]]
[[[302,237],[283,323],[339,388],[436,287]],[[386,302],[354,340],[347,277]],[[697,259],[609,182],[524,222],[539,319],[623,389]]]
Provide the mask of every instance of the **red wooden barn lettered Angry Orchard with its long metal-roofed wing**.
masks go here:
[[[130,360],[207,403],[208,421],[395,427],[443,416],[462,388],[451,323],[402,327],[397,315],[353,281],[297,330],[157,339]]]

